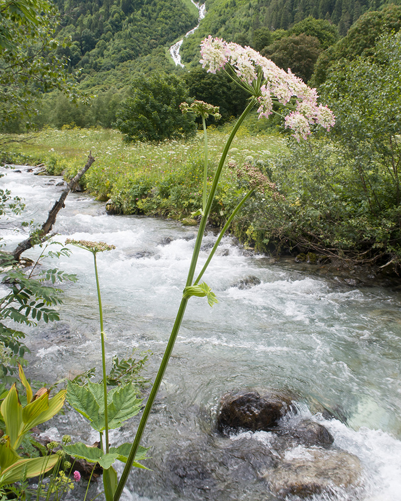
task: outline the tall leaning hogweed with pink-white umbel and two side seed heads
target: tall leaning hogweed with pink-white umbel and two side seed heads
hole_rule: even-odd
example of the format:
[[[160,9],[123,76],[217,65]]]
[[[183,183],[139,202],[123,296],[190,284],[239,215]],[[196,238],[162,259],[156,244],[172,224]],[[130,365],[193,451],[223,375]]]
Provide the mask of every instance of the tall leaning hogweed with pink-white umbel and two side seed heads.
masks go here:
[[[225,71],[234,82],[240,85],[240,87],[242,87],[249,94],[249,103],[245,111],[235,124],[232,132],[230,133],[227,143],[223,149],[219,164],[217,166],[209,193],[206,192],[206,183],[204,182],[204,204],[202,213],[200,214],[202,217],[199,223],[192,259],[190,262],[185,287],[183,289],[181,302],[178,308],[174,325],[172,327],[166,350],[164,352],[159,370],[154,380],[146,406],[142,413],[135,438],[128,454],[124,470],[122,472],[120,481],[115,488],[114,501],[118,501],[118,499],[120,498],[129,471],[134,464],[138,451],[140,451],[139,444],[141,437],[145,429],[156,394],[160,387],[160,383],[163,379],[168,360],[170,358],[189,299],[191,298],[191,296],[207,297],[208,302],[211,306],[213,306],[213,304],[217,302],[216,296],[211,291],[210,287],[206,283],[199,285],[199,281],[206,272],[206,269],[215,253],[217,245],[223,237],[224,232],[227,230],[228,226],[230,225],[231,221],[238,213],[238,211],[241,209],[242,205],[254,191],[259,191],[262,193],[268,191],[272,193],[272,196],[274,197],[280,196],[277,193],[275,185],[270,183],[270,181],[252,165],[245,164],[240,168],[238,168],[235,164],[231,165],[232,168],[237,169],[237,176],[239,176],[242,180],[246,180],[248,182],[249,190],[240,201],[238,206],[234,209],[233,214],[227,220],[227,223],[224,226],[221,234],[219,235],[215,246],[211,250],[209,258],[198,273],[197,277],[194,279],[200,246],[202,244],[202,239],[205,233],[208,217],[211,212],[212,203],[216,194],[219,179],[222,174],[228,151],[241,124],[243,123],[246,116],[250,113],[252,108],[257,106],[259,118],[267,118],[272,113],[277,113],[283,116],[285,120],[285,127],[292,130],[293,136],[299,142],[301,138],[306,139],[308,135],[311,134],[313,127],[320,126],[327,130],[330,130],[330,128],[335,123],[334,115],[327,108],[327,106],[323,106],[317,103],[318,96],[316,89],[311,89],[310,87],[308,87],[306,84],[304,84],[304,82],[302,82],[302,80],[293,75],[290,70],[288,70],[288,72],[285,72],[284,70],[278,68],[272,61],[269,61],[268,59],[262,57],[255,50],[249,47],[243,48],[235,43],[227,43],[222,39],[213,39],[211,36],[202,42],[201,47],[202,60],[200,60],[200,63],[203,64],[203,67],[206,68],[210,73],[216,73],[220,70]],[[197,108],[197,106],[199,106],[199,108]],[[200,104],[196,104],[196,106],[194,106],[192,109],[183,106],[183,111],[193,111],[194,113],[198,113],[200,114],[200,116],[203,116],[203,121],[205,119],[205,112],[209,113],[209,111],[207,111],[207,108],[205,109],[204,105]],[[212,112],[217,113],[215,108]],[[202,115],[202,113],[204,113],[204,115]],[[205,144],[207,145],[206,127],[205,138]],[[207,156],[205,161],[204,179],[205,176],[207,178]]]

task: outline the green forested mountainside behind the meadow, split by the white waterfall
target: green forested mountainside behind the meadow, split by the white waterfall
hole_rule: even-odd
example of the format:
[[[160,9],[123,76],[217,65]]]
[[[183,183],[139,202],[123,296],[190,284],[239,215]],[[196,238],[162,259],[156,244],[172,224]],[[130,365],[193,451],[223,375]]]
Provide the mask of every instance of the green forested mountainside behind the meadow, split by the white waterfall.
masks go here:
[[[79,89],[94,96],[90,105],[77,106],[68,93],[49,92],[55,86],[23,78],[17,84],[19,95],[28,89],[36,96],[34,108],[40,108],[37,126],[59,128],[70,123],[112,127],[119,106],[129,96],[132,80],[157,72],[176,74],[185,81],[190,97],[220,105],[222,94],[230,92],[230,83],[221,80],[223,86],[218,88],[199,70],[199,44],[209,35],[250,45],[280,67],[292,68],[296,75],[318,86],[333,62],[366,53],[382,33],[398,31],[401,19],[396,5],[380,0],[207,0],[206,17],[183,40],[180,55],[185,68],[181,68],[174,65],[169,47],[197,24],[198,11],[190,0],[47,3],[59,13],[54,18],[58,40],[53,50],[55,61],[62,66],[66,62],[65,70],[76,78]],[[3,14],[2,23],[6,21]],[[26,42],[22,50],[28,56],[37,41],[28,37]],[[46,54],[48,57],[51,51]],[[23,54],[20,56],[22,60]],[[0,55],[1,64],[5,65],[6,59],[5,54]],[[223,101],[224,120],[236,116],[243,103],[237,96]],[[2,130],[25,130],[24,113],[27,115],[28,110],[12,121],[4,121]]]

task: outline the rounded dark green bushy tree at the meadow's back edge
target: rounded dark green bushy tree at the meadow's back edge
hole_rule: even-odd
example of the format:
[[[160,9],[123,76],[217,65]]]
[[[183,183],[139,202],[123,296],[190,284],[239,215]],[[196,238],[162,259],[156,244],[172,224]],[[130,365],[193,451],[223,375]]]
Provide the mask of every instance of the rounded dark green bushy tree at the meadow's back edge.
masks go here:
[[[127,141],[188,138],[195,133],[193,116],[183,115],[179,109],[187,96],[186,86],[175,75],[138,77],[115,125]]]

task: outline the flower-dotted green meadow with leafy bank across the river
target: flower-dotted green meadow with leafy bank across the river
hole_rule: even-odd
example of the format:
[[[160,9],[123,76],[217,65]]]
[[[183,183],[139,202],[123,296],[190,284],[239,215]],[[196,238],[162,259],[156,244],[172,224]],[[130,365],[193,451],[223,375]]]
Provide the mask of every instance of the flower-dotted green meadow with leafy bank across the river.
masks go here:
[[[210,179],[230,130],[230,125],[209,129]],[[201,205],[204,139],[200,131],[186,142],[126,144],[120,133],[110,129],[46,129],[30,144],[8,148],[3,160],[44,163],[50,174],[70,178],[83,167],[90,151],[96,161],[82,179],[82,186],[98,200],[111,199],[117,213],[182,219]],[[278,133],[252,135],[245,125],[233,142],[228,160],[266,165],[285,151],[285,140]],[[224,221],[226,206],[236,203],[244,190],[227,167],[212,215],[216,224]]]

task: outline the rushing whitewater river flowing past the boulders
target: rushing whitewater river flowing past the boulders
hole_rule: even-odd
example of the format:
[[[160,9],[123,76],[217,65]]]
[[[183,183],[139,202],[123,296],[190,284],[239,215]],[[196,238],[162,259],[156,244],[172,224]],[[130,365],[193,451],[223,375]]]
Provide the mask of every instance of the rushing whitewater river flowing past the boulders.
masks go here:
[[[60,178],[4,170],[3,187],[26,200],[24,217],[44,221],[59,197]],[[18,221],[17,221],[18,222]],[[58,215],[57,240],[102,240],[116,249],[98,254],[109,359],[132,348],[153,355],[154,377],[176,314],[194,245],[195,230],[179,222],[136,216],[108,216],[104,204],[70,194]],[[2,229],[13,248],[21,233]],[[205,236],[200,261],[216,236]],[[31,257],[36,250],[26,253]],[[242,388],[293,392],[299,413],[324,424],[334,445],[356,455],[363,489],[352,495],[316,495],[316,501],[399,501],[401,499],[401,316],[399,292],[352,288],[249,255],[225,237],[204,279],[219,304],[191,298],[160,388],[143,443],[150,446],[153,471],[135,471],[125,498],[135,501],[192,501],[209,494],[167,488],[166,457],[192,440],[221,446],[214,432],[221,396]],[[57,266],[79,277],[65,284],[61,322],[30,331],[31,377],[53,382],[99,366],[100,342],[92,257],[75,248]],[[260,284],[235,285],[245,277]],[[327,409],[336,418],[316,413]],[[326,414],[325,414],[326,416]],[[112,434],[129,439],[137,421]],[[50,423],[49,434],[95,441],[86,423],[68,412]],[[203,437],[203,438],[202,438]],[[207,451],[205,451],[207,454]],[[219,478],[219,472],[216,472]],[[74,492],[74,491],[73,491]],[[220,491],[222,492],[222,491]],[[237,478],[224,484],[216,501],[270,501],[266,483]],[[355,494],[353,494],[355,495]],[[204,496],[204,497],[203,497]],[[72,497],[74,499],[74,497]],[[78,500],[79,497],[76,497]],[[288,499],[297,499],[288,497]]]

